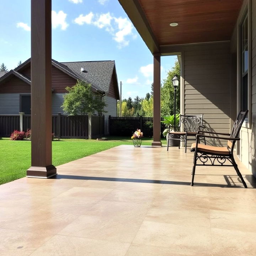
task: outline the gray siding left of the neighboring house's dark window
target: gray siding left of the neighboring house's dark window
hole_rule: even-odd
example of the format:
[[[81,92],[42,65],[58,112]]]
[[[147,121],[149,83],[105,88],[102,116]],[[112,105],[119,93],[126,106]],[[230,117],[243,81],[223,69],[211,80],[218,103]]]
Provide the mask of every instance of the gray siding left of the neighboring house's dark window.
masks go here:
[[[20,112],[20,94],[0,94],[0,114],[10,115]]]

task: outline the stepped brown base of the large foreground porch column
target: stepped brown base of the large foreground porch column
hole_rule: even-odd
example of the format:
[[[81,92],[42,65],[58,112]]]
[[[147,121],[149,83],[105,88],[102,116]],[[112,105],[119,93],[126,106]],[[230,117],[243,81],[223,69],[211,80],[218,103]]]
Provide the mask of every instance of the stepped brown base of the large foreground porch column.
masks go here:
[[[28,178],[50,178],[57,175],[57,169],[53,165],[48,165],[46,167],[31,166],[27,170]]]

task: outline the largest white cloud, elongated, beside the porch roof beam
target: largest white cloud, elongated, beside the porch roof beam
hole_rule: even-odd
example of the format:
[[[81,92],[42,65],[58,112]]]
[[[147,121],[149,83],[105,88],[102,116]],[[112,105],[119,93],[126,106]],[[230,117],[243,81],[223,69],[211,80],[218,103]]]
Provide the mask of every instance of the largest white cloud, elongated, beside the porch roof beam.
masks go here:
[[[106,14],[93,14],[90,12],[87,15],[80,14],[75,18],[75,23],[79,25],[94,25],[105,30],[113,36],[113,39],[118,43],[118,48],[128,46],[129,40],[127,37],[135,39],[136,34],[133,33],[133,25],[127,18],[114,17],[109,12]]]

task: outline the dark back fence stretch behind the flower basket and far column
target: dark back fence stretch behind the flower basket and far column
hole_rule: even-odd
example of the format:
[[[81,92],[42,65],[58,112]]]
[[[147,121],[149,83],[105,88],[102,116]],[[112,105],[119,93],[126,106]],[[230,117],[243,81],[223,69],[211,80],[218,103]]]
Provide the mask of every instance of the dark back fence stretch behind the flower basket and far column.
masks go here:
[[[153,117],[109,117],[110,135],[132,136],[135,130],[140,129],[145,137],[153,137]],[[161,118],[161,121],[164,120]],[[161,123],[161,136],[165,124]]]

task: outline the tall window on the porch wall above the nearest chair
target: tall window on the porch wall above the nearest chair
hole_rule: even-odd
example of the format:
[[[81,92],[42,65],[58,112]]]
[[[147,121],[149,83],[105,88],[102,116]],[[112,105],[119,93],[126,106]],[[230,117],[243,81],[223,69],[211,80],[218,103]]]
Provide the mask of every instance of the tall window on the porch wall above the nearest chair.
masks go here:
[[[240,27],[240,53],[241,53],[241,110],[246,111],[248,109],[248,16],[245,15]]]

